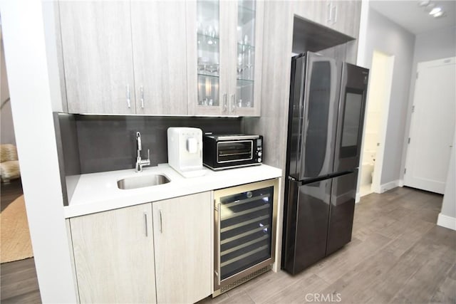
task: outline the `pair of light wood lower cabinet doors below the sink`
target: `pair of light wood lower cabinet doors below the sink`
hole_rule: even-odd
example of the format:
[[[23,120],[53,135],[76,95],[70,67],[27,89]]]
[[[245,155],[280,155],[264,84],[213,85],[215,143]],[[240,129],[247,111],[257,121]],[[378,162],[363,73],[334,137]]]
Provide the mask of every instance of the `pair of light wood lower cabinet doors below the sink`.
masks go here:
[[[195,303],[210,295],[211,198],[202,192],[71,218],[80,302]]]

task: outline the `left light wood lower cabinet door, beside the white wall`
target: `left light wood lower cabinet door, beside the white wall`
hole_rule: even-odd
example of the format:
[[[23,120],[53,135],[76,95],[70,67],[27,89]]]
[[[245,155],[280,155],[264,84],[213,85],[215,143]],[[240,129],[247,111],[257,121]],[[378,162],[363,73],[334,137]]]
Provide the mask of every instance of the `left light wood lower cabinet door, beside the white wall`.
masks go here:
[[[81,303],[156,303],[152,204],[70,219]]]

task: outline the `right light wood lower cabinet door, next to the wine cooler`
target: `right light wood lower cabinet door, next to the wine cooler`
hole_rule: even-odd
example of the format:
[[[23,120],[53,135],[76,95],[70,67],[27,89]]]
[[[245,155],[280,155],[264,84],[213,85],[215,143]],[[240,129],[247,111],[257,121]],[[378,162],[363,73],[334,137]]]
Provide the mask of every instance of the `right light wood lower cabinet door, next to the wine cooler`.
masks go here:
[[[158,303],[195,303],[212,293],[210,192],[152,204]]]

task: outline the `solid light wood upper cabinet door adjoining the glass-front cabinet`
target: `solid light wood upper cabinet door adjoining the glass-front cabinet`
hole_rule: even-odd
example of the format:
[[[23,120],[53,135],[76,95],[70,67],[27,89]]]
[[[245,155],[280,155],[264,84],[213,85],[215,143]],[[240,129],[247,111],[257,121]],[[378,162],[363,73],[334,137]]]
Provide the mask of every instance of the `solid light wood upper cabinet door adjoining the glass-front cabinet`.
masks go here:
[[[137,114],[187,114],[185,2],[132,1]]]

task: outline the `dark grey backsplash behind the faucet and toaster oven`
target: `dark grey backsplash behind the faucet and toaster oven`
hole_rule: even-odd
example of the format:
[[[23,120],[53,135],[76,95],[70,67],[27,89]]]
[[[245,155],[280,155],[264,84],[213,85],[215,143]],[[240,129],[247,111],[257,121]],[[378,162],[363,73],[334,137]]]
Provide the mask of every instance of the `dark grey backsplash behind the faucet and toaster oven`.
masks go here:
[[[242,132],[242,118],[237,117],[155,117],[68,115],[76,121],[78,158],[81,174],[119,169],[133,169],[136,159],[135,134],[141,132],[142,157],[150,150],[151,165],[167,162],[167,128],[198,127],[204,132]],[[62,138],[71,129],[61,127]],[[65,150],[65,149],[64,149]],[[64,152],[73,153],[70,149]],[[76,160],[73,154],[68,157]],[[68,167],[68,170],[74,167]],[[66,169],[66,174],[70,171]],[[73,172],[71,172],[73,174]]]

